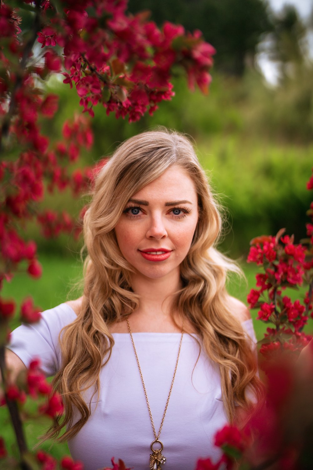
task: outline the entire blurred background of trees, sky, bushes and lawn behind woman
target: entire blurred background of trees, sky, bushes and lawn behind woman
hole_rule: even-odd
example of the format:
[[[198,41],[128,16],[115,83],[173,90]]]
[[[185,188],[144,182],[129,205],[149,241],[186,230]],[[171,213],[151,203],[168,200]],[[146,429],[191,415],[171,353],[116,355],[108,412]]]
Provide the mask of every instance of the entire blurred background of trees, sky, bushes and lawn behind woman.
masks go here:
[[[238,260],[248,278],[248,284],[233,279],[229,289],[245,301],[256,271],[245,263],[250,240],[275,235],[282,227],[296,241],[305,236],[305,211],[312,200],[306,190],[313,164],[312,2],[129,0],[131,13],[147,9],[158,25],[168,20],[187,31],[199,29],[216,48],[210,92],[191,92],[186,78],[174,71],[176,95],[160,103],[153,117],[129,124],[107,117],[99,106],[92,119],[92,151],[73,169],[94,164],[124,139],[157,125],[190,135],[225,208],[221,250]],[[47,91],[60,96],[55,118],[41,123],[52,141],[61,139],[65,119],[81,113],[76,90],[62,80],[60,75],[46,83]],[[66,191],[47,196],[44,203],[77,216],[83,204],[84,196],[75,199]],[[74,298],[79,291],[69,290],[82,277],[81,242],[68,235],[46,240],[36,224],[24,230],[38,244],[44,273],[37,282],[16,274],[3,295],[17,302],[32,295],[42,309],[68,295]],[[261,337],[265,326],[259,323]]]

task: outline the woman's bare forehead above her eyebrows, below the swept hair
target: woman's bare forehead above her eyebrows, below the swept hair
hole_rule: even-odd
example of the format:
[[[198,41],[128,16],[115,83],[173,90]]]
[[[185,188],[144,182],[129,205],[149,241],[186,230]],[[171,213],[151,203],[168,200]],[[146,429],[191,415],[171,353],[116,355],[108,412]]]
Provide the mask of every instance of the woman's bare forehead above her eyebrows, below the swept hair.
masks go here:
[[[179,165],[170,166],[156,180],[139,189],[132,197],[138,199],[161,199],[197,201],[195,185],[184,168]]]

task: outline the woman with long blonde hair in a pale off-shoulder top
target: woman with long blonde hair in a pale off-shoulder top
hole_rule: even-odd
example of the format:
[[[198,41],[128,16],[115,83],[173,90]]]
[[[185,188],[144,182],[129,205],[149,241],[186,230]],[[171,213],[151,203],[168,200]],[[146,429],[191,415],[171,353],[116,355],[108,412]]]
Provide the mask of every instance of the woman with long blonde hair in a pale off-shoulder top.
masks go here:
[[[61,440],[85,469],[115,456],[136,470],[191,470],[219,457],[215,432],[260,396],[252,320],[225,289],[238,268],[214,248],[220,233],[183,135],[132,137],[99,172],[83,297],[16,329],[8,354],[16,370],[39,355],[55,374],[66,413],[48,436],[66,424]]]

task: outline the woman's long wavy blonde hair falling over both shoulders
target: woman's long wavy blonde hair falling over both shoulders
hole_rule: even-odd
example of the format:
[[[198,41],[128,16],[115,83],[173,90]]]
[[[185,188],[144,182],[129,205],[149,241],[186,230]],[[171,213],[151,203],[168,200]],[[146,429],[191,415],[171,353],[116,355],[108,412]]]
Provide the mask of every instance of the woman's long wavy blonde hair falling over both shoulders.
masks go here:
[[[221,234],[221,215],[191,142],[182,134],[157,130],[123,142],[99,172],[92,202],[84,216],[84,296],[75,321],[60,334],[62,365],[53,379],[61,393],[65,415],[46,437],[74,437],[90,416],[84,392],[99,397],[99,373],[110,359],[114,339],[109,326],[122,321],[140,299],[131,289],[132,266],[119,250],[115,226],[133,194],[177,164],[189,174],[198,194],[198,224],[188,255],[181,264],[183,288],[173,310],[187,318],[201,338],[207,355],[218,364],[222,396],[229,421],[235,404],[248,408],[249,395],[261,395],[257,365],[225,288],[227,273],[239,268],[214,247]],[[179,295],[178,295],[179,294]],[[73,409],[80,418],[74,422]]]

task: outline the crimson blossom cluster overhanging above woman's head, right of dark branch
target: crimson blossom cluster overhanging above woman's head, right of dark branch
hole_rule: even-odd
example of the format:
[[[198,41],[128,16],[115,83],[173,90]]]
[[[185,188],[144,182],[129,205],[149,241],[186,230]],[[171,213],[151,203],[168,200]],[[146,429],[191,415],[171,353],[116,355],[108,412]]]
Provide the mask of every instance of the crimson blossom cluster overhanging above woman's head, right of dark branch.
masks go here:
[[[60,71],[60,56],[52,49],[64,49],[64,83],[74,83],[84,112],[94,115],[98,103],[107,114],[137,121],[146,110],[174,95],[171,67],[178,65],[207,93],[215,50],[202,39],[200,31],[185,33],[182,26],[166,22],[162,29],[146,14],[126,14],[127,2],[111,0],[70,3],[64,15],[49,8],[46,26],[38,31],[41,47],[49,47],[45,69]],[[88,12],[88,13],[87,13]],[[38,71],[38,73],[45,73]]]

